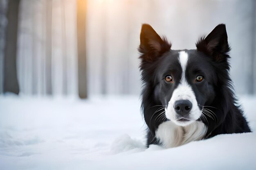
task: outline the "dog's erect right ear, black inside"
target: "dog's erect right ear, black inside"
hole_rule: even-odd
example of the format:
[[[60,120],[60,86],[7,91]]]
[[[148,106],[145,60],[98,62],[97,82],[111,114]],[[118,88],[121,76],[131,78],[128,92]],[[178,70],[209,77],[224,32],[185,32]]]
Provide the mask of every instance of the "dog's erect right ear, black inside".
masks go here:
[[[217,62],[225,59],[230,51],[225,24],[219,24],[207,37],[201,37],[196,47],[198,51],[213,56]]]

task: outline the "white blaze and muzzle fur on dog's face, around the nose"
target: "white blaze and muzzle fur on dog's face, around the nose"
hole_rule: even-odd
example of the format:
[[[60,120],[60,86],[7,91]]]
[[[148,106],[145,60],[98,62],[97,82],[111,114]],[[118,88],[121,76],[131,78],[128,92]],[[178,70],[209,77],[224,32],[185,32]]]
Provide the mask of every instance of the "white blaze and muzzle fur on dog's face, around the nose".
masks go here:
[[[198,103],[195,98],[193,89],[191,88],[189,83],[187,83],[187,81],[186,81],[185,73],[186,73],[186,66],[187,66],[187,62],[189,60],[189,56],[184,51],[179,52],[179,54],[180,54],[179,55],[179,63],[182,68],[182,78],[180,80],[180,84],[178,85],[178,87],[173,91],[173,95],[172,95],[170,101],[168,102],[167,108],[165,109],[165,114],[166,114],[166,118],[168,118],[175,124],[177,124],[179,126],[187,126],[187,125],[195,122],[195,120],[198,120],[200,118],[201,110],[198,107]],[[173,107],[174,103],[177,100],[189,100],[192,103],[192,108],[189,113],[190,121],[180,122],[177,120],[177,113]]]

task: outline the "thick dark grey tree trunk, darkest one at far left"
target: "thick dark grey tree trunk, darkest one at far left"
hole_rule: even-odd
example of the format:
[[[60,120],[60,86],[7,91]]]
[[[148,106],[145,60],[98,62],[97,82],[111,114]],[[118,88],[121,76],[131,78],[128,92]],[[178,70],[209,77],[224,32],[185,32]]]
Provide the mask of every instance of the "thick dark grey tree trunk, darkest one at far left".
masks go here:
[[[20,0],[9,0],[7,12],[7,39],[4,57],[4,92],[19,93],[16,72],[16,48],[18,31],[18,11]]]

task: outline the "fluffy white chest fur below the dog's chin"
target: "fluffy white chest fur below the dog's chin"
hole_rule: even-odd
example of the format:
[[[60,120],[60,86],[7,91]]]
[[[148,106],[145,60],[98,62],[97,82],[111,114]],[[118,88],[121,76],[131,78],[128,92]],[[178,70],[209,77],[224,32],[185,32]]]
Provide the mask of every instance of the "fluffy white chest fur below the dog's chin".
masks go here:
[[[195,121],[188,126],[178,126],[171,121],[159,125],[155,136],[166,148],[173,148],[191,141],[201,140],[207,133],[207,126]]]

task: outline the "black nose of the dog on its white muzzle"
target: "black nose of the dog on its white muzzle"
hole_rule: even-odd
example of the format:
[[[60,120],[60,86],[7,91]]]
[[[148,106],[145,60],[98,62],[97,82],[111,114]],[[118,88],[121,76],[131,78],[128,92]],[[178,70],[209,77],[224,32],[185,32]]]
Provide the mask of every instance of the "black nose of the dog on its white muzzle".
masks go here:
[[[189,100],[177,100],[174,103],[174,109],[177,114],[186,116],[191,111],[192,103]]]

